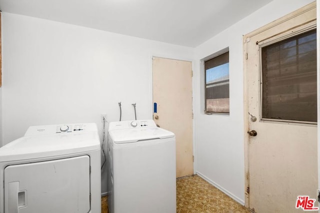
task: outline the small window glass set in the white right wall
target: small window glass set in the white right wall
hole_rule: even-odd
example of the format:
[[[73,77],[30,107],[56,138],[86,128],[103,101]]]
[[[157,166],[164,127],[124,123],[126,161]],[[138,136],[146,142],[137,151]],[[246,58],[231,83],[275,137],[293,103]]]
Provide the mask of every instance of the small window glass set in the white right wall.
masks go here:
[[[229,113],[229,52],[204,61],[205,111]]]

